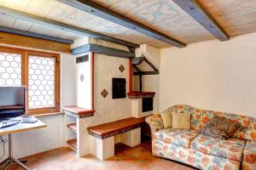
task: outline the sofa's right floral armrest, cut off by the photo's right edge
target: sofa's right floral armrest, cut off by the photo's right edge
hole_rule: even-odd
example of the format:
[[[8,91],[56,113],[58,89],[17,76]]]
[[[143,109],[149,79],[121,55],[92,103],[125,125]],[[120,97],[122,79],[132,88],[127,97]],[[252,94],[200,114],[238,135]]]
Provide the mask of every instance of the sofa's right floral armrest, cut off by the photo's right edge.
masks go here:
[[[247,140],[247,144],[243,150],[242,169],[256,169],[256,141]]]

